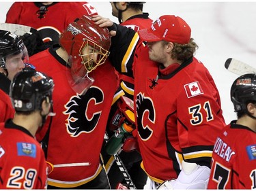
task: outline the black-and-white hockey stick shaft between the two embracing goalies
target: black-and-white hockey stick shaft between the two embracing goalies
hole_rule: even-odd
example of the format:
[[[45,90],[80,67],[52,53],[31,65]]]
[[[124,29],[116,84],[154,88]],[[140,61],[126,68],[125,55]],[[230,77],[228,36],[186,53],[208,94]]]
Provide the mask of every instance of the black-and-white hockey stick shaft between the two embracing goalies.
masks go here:
[[[109,141],[109,135],[107,135],[107,133],[105,133],[104,135],[104,140],[106,141],[106,143]],[[118,154],[114,154],[113,155],[115,162],[117,163],[117,167],[119,168],[119,170],[121,171],[121,173],[124,175],[124,179],[126,180],[126,183],[128,185],[128,188],[130,188],[130,190],[136,190],[136,186],[134,185],[132,178],[130,177],[126,167],[124,166],[124,163],[122,162],[120,156]]]

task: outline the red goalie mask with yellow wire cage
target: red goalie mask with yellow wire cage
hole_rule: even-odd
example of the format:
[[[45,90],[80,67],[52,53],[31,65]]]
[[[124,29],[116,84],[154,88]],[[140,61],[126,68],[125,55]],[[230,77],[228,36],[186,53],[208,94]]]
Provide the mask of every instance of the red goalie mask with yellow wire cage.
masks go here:
[[[83,77],[105,62],[109,56],[111,37],[108,29],[99,27],[91,17],[83,15],[61,33],[59,44],[71,57],[72,73]],[[83,50],[88,46],[91,46],[92,50],[89,54],[83,54]],[[97,60],[90,58],[92,54],[97,54]]]

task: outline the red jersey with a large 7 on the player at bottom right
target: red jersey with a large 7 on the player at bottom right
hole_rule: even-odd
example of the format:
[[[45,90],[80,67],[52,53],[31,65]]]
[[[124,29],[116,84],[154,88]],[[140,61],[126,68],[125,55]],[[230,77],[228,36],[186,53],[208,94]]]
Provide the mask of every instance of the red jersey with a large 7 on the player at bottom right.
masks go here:
[[[256,133],[231,122],[216,139],[208,189],[256,188]]]

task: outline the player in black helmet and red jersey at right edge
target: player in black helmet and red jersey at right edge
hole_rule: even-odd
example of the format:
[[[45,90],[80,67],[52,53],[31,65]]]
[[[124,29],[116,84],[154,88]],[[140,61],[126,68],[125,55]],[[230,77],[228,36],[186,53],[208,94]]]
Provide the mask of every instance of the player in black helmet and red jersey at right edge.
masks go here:
[[[216,139],[208,189],[255,189],[256,74],[238,77],[230,97],[238,120]]]

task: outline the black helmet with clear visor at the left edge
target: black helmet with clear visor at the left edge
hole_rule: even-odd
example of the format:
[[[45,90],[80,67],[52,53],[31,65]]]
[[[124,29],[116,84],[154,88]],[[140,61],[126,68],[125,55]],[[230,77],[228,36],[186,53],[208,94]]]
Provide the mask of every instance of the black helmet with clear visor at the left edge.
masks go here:
[[[20,53],[23,53],[23,63],[27,63],[29,55],[23,40],[10,31],[0,30],[0,67],[6,69],[6,58]]]

